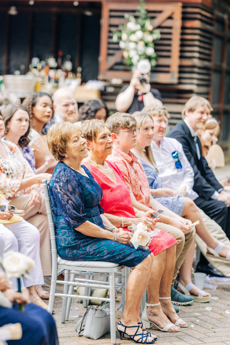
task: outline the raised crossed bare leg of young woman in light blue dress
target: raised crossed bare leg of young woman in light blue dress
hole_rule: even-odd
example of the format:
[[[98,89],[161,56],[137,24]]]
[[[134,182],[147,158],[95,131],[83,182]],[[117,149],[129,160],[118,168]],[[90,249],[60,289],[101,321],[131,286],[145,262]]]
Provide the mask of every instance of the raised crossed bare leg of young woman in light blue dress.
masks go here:
[[[194,202],[189,198],[184,198],[184,209],[182,212],[182,217],[190,219],[192,223],[199,220],[200,224],[196,225],[196,232],[200,238],[207,244],[208,247],[215,249],[218,245],[218,240],[210,234],[207,226],[204,224],[204,221],[201,217],[198,207]],[[220,250],[219,255],[227,257],[230,247],[224,244],[223,248]]]

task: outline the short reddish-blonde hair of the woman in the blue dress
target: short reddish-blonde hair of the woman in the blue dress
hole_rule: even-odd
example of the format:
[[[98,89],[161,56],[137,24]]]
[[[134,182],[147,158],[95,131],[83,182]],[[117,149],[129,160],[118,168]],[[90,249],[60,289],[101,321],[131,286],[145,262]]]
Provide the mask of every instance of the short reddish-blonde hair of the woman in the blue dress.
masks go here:
[[[60,122],[51,126],[47,132],[47,145],[51,155],[59,162],[64,158],[66,153],[67,142],[71,139],[72,134],[83,135],[81,127],[71,124],[70,121]]]

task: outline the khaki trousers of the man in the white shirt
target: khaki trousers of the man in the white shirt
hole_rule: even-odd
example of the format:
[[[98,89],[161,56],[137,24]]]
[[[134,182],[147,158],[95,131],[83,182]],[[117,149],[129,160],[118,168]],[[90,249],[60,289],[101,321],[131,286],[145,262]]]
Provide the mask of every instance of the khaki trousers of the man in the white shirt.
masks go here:
[[[209,232],[216,238],[218,241],[226,244],[230,247],[230,240],[226,236],[222,228],[209,216],[207,216],[201,209],[199,209],[204,224],[207,226]],[[224,261],[220,259],[210,258],[207,254],[207,244],[196,234],[196,244],[198,245],[201,253],[206,257],[208,262],[218,269],[224,276],[230,278],[230,261]]]

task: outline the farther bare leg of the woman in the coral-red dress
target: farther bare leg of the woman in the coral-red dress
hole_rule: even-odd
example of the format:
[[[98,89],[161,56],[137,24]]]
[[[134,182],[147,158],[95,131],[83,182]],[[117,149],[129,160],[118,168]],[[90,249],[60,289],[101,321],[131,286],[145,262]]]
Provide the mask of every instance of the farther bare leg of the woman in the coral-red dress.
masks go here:
[[[176,245],[166,249],[166,258],[164,271],[161,277],[160,282],[160,297],[169,297],[171,294],[171,281],[173,278],[173,272],[176,262]],[[161,307],[163,313],[168,316],[168,318],[175,323],[179,316],[175,312],[175,309],[172,306],[171,299],[160,299]],[[186,326],[186,322],[181,322],[180,326]]]

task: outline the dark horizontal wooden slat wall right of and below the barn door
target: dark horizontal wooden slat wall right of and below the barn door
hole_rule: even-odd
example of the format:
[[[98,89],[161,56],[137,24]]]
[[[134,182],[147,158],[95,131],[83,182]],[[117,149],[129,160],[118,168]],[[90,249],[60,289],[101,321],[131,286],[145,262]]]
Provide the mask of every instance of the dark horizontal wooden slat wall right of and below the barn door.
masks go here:
[[[161,36],[163,41],[170,37],[170,30],[166,31]],[[170,126],[181,120],[181,110],[184,103],[195,93],[209,98],[212,32],[213,14],[211,8],[201,4],[194,6],[183,4],[178,82],[176,84],[152,84],[152,87],[161,91],[163,103],[171,114]],[[156,42],[156,52],[167,58],[167,52],[161,51],[161,40]],[[116,66],[117,68],[119,67]],[[163,72],[166,70],[166,66],[158,63],[153,71]],[[122,85],[126,84],[123,83]],[[109,82],[107,85],[110,85]],[[102,93],[102,98],[112,111],[115,110],[115,100],[120,89],[120,86],[113,85],[113,87],[114,91]]]

